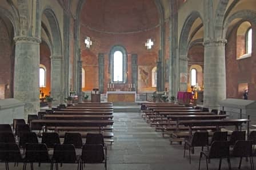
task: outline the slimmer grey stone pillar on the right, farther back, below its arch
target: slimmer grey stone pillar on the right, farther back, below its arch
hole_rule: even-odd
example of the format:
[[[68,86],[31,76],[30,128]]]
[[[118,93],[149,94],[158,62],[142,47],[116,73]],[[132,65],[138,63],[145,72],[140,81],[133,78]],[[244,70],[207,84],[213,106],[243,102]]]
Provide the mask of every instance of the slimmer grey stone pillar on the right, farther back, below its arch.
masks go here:
[[[179,55],[179,91],[187,91],[187,63],[189,58]]]

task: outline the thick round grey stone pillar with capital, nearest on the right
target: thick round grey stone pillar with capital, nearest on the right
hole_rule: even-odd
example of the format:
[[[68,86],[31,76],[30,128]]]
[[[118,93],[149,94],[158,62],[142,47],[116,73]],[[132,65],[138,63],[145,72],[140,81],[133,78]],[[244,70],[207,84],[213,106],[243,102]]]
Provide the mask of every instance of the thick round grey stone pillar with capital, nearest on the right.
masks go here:
[[[226,99],[225,40],[205,41],[203,105],[218,106],[219,100]]]

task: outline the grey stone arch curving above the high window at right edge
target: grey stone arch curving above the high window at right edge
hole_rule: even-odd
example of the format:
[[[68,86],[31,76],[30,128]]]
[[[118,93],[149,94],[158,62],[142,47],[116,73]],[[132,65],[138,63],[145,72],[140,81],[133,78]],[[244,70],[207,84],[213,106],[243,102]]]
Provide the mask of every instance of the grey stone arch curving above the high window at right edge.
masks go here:
[[[223,37],[226,37],[227,29],[228,29],[230,23],[236,18],[242,18],[243,20],[249,21],[250,23],[253,23],[253,25],[256,25],[255,11],[252,11],[252,10],[237,11],[236,13],[231,15],[229,18],[225,19],[224,29],[223,29]]]

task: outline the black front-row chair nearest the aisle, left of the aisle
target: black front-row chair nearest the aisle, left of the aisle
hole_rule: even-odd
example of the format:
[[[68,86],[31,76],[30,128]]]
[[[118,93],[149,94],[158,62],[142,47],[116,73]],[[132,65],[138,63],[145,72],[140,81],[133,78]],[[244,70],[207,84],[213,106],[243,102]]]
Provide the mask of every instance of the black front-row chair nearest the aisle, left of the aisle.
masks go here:
[[[83,164],[105,164],[107,169],[107,156],[104,154],[102,144],[85,144],[82,148],[80,168],[83,169]]]

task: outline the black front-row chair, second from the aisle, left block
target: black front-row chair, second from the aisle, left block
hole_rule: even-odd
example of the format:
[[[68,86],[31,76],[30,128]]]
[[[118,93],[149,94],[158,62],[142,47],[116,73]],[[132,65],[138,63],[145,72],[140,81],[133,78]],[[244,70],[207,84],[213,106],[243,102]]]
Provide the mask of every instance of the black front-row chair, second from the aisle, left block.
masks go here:
[[[55,168],[58,170],[58,164],[77,164],[79,169],[80,157],[75,155],[75,147],[73,144],[55,144],[51,167],[55,163]]]

